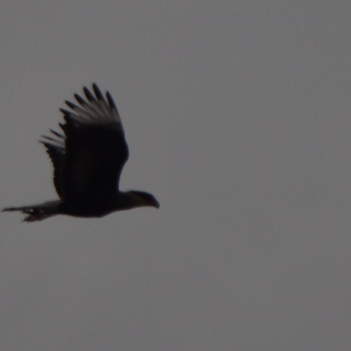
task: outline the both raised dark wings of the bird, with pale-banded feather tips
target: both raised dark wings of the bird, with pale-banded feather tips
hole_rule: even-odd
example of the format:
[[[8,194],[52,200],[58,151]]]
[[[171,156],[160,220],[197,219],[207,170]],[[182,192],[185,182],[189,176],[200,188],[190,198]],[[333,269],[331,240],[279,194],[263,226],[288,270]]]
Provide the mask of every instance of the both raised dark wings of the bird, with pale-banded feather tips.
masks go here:
[[[43,141],[54,163],[54,183],[59,196],[67,200],[98,200],[118,190],[122,168],[128,159],[122,123],[115,102],[93,84],[95,96],[84,87],[86,96],[75,95],[79,105],[66,104],[64,135]],[[64,140],[64,148],[63,141]],[[55,180],[56,179],[56,180]]]

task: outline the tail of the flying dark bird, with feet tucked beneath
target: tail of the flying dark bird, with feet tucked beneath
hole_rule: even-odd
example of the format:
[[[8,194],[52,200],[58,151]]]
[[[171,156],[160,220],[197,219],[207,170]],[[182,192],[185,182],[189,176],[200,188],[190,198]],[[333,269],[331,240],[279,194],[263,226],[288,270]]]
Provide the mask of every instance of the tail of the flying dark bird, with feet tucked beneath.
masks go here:
[[[2,211],[20,211],[25,214],[23,221],[25,222],[35,222],[43,220],[45,218],[57,215],[58,206],[61,200],[48,201],[39,205],[23,206],[23,207],[5,207]]]

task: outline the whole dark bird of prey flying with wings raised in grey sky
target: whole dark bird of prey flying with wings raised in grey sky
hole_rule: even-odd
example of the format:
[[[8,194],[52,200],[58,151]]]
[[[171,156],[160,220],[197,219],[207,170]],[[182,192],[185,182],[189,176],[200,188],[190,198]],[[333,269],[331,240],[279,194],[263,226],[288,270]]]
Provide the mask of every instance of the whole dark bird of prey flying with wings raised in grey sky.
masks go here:
[[[83,88],[85,98],[75,94],[78,104],[66,101],[71,111],[60,109],[62,132],[50,130],[40,140],[54,165],[54,185],[58,200],[38,205],[7,207],[20,211],[24,221],[39,221],[53,215],[102,217],[135,207],[159,208],[154,195],[119,190],[119,178],[128,159],[128,145],[116,104],[93,84],[94,94]]]

